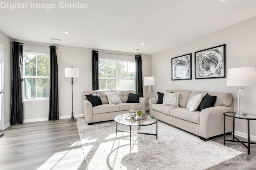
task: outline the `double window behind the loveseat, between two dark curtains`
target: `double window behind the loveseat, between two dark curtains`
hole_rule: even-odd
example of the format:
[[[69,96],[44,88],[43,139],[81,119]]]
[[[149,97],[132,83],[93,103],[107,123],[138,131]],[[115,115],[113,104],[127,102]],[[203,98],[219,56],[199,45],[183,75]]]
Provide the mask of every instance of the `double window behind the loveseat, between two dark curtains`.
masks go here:
[[[99,59],[99,90],[114,89],[135,90],[135,62]]]

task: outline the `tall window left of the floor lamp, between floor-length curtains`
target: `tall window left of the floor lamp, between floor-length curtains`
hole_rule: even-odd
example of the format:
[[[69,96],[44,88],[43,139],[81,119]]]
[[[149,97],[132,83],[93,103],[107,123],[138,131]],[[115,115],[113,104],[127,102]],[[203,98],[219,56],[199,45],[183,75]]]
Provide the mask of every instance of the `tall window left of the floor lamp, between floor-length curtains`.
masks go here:
[[[50,55],[23,53],[24,99],[49,98]]]

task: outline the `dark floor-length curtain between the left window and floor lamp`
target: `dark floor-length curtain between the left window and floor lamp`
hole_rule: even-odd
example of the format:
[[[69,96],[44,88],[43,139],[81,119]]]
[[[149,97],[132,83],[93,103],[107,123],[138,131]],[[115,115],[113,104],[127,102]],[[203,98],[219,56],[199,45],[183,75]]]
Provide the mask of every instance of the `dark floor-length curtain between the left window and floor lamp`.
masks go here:
[[[49,120],[59,119],[58,62],[56,47],[50,46]]]

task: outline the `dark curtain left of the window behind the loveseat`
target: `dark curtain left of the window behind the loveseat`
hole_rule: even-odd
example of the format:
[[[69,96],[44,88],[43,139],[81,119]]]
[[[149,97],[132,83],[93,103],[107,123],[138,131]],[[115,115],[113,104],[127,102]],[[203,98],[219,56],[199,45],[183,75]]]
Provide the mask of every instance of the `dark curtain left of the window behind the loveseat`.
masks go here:
[[[92,50],[92,90],[99,90],[99,55]]]

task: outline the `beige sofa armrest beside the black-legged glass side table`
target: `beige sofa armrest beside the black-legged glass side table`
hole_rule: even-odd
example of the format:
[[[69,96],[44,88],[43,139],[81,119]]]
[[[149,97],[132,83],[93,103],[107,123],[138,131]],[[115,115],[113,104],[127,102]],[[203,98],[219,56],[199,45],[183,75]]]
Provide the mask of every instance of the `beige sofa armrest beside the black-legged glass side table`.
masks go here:
[[[231,106],[215,106],[202,109],[200,112],[199,136],[207,139],[223,134],[223,113],[233,110]],[[233,131],[232,117],[226,117],[226,132],[231,131]]]

